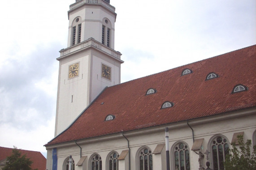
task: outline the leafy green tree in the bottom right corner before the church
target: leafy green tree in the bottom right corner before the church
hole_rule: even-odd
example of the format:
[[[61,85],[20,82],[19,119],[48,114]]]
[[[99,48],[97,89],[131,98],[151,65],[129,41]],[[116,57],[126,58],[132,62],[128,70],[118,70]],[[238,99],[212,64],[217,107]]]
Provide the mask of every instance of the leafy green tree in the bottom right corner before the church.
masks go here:
[[[243,136],[237,136],[239,149],[232,143],[232,149],[226,155],[225,170],[256,170],[256,145],[251,152],[252,140],[243,141]]]

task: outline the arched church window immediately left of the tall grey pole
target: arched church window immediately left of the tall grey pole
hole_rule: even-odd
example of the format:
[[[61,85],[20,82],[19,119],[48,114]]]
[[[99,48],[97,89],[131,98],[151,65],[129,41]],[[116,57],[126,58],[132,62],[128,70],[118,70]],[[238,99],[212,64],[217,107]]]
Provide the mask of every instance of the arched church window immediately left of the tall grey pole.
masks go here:
[[[153,170],[152,152],[147,148],[140,151],[139,170]]]

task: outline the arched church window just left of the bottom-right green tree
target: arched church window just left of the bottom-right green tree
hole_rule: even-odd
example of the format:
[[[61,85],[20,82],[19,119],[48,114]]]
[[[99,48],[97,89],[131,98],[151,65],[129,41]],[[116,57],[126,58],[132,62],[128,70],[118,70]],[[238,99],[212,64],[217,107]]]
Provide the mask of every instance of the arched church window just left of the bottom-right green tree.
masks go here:
[[[224,161],[228,154],[229,144],[222,136],[215,137],[211,142],[213,170],[224,170]]]

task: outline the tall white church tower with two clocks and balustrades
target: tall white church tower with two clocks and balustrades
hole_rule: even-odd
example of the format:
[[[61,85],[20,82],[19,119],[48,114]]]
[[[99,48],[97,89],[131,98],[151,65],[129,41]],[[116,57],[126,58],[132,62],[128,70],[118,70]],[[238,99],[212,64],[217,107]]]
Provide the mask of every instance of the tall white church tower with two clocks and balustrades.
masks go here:
[[[69,6],[67,48],[60,51],[55,136],[106,87],[120,84],[121,53],[114,50],[117,14],[110,0]]]

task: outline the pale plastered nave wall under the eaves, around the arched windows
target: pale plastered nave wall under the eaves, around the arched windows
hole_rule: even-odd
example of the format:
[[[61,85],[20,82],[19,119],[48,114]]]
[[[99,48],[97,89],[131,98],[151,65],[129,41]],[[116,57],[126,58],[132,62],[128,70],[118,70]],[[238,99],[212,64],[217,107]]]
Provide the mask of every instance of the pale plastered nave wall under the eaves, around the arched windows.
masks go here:
[[[250,115],[243,115],[237,118],[225,118],[222,115],[204,118],[200,120],[191,120],[189,124],[194,130],[194,138],[201,139],[204,138],[204,142],[201,150],[197,150],[196,152],[201,151],[202,153],[206,152],[206,149],[209,151],[208,142],[213,136],[221,134],[225,136],[226,139],[231,142],[233,134],[235,132],[244,132],[244,140],[251,139],[252,134],[256,130],[256,113]],[[143,129],[134,132],[126,132],[125,136],[130,141],[130,158],[131,158],[131,170],[138,170],[138,160],[136,159],[136,154],[139,149],[143,146],[147,146],[152,149],[152,152],[156,148],[157,144],[165,143],[165,127],[169,127],[169,146],[170,146],[170,163],[171,170],[174,170],[174,155],[172,152],[174,144],[182,141],[188,144],[190,149],[190,167],[191,170],[198,169],[198,155],[191,151],[193,146],[193,138],[191,128],[187,125],[187,122],[174,123],[171,125],[166,125],[163,127],[154,127],[150,129]],[[115,135],[103,136],[92,138],[88,140],[78,141],[78,144],[82,147],[82,156],[87,156],[87,159],[84,161],[84,168],[76,166],[76,168],[89,170],[89,160],[91,155],[94,153],[98,153],[102,158],[103,169],[106,166],[106,159],[108,153],[112,151],[117,151],[117,153],[121,153],[122,150],[128,149],[127,140],[122,136],[121,132]],[[72,155],[75,163],[77,163],[80,159],[80,148],[75,145],[73,142],[72,146],[67,146],[63,148],[57,149],[58,155],[58,167],[62,167],[63,161],[69,155]],[[211,154],[209,154],[209,161],[211,162]],[[165,166],[165,148],[163,148],[161,152],[161,161],[159,158],[156,158],[159,155],[153,155],[153,167],[158,167],[159,170],[164,170]],[[126,158],[129,157],[127,154]],[[121,160],[123,161],[123,160]],[[206,155],[204,156],[203,167],[206,168]],[[123,164],[123,163],[121,163]],[[126,166],[128,166],[126,164]],[[86,167],[86,168],[85,168]],[[128,167],[127,167],[128,168]],[[213,168],[213,167],[211,167]],[[58,168],[61,170],[60,168]]]

